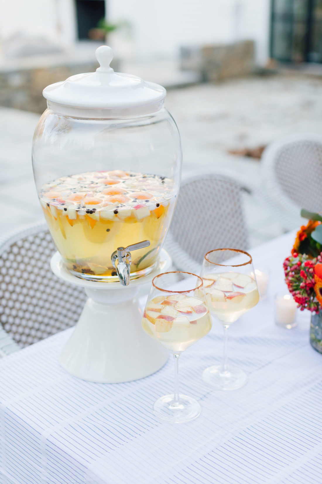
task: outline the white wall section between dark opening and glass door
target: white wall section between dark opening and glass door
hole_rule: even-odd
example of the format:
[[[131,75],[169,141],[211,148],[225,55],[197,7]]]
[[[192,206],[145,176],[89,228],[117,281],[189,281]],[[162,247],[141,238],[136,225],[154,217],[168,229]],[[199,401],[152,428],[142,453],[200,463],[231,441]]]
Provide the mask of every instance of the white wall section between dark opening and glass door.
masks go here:
[[[128,20],[140,59],[175,58],[180,45],[256,41],[265,64],[270,0],[108,0],[110,20]]]

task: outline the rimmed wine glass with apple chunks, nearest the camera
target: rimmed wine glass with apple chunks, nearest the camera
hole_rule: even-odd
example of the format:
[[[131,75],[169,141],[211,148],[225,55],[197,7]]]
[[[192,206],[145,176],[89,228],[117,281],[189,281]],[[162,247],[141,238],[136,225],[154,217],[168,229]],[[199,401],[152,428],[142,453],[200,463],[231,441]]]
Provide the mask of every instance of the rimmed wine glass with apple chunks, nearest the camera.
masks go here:
[[[210,332],[211,316],[201,277],[190,272],[164,272],[154,277],[142,328],[173,355],[174,393],[159,398],[154,414],[167,422],[195,419],[201,411],[192,397],[179,393],[178,360],[182,351]]]

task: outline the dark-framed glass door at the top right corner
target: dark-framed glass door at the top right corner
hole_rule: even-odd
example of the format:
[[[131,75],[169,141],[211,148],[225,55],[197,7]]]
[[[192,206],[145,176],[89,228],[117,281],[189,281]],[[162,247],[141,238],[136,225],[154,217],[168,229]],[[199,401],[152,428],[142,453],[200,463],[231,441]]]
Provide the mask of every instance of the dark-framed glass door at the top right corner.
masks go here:
[[[272,0],[270,55],[282,62],[322,62],[322,0]]]

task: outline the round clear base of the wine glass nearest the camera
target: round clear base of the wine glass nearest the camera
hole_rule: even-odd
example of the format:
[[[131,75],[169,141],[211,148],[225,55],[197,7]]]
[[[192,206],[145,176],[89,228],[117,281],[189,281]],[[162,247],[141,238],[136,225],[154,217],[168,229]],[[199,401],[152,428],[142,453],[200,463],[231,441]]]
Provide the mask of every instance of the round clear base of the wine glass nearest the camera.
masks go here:
[[[174,394],[165,395],[156,400],[153,406],[154,415],[171,423],[184,423],[200,415],[201,407],[194,398],[179,394],[179,401],[174,401]]]

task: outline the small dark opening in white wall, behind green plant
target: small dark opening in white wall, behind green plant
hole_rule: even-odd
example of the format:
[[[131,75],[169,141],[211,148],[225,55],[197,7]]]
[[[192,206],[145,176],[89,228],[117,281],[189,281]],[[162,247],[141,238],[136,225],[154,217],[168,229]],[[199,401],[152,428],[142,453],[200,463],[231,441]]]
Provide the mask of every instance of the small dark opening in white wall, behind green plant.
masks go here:
[[[105,17],[105,0],[76,0],[78,38],[89,39],[88,31],[98,26]]]

